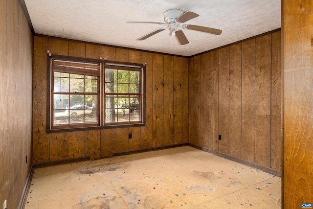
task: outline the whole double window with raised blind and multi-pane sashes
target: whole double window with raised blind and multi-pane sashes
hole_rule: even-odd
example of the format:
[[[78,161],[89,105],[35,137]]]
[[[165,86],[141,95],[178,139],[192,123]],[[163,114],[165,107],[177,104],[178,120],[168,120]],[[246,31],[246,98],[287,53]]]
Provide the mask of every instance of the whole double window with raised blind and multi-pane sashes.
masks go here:
[[[47,130],[144,124],[143,64],[48,57]]]

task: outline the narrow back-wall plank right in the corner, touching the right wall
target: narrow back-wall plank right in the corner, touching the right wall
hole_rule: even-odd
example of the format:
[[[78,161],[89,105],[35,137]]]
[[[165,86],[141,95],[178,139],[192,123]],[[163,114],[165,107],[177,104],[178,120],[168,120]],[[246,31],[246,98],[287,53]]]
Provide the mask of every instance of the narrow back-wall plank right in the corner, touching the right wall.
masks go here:
[[[183,58],[183,110],[182,110],[182,142],[188,143],[188,126],[189,126],[189,97],[188,97],[188,89],[189,89],[189,83],[188,83],[188,69],[189,69],[189,61],[188,58]]]

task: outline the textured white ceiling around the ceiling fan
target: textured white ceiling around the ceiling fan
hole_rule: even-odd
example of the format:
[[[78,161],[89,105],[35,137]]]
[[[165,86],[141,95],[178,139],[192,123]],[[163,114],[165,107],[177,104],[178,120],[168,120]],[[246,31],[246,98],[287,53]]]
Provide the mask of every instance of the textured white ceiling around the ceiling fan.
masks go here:
[[[281,0],[25,0],[35,33],[99,44],[191,56],[281,27]],[[221,35],[183,30],[180,45],[170,30],[137,39],[163,25],[164,11],[200,15],[186,23],[223,30]]]

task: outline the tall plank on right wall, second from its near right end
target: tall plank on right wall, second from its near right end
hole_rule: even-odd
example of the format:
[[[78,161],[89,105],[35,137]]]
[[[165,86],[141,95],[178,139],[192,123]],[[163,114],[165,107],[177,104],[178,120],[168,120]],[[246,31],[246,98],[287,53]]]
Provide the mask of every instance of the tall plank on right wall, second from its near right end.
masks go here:
[[[271,35],[255,39],[255,163],[270,167]]]

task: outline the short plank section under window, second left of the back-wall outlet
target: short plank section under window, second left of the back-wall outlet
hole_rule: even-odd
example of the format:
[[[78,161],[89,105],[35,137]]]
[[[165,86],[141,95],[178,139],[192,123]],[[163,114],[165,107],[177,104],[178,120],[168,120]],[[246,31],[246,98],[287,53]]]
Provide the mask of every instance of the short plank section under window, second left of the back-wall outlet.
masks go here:
[[[101,158],[111,157],[115,148],[115,129],[102,129],[100,133],[101,138],[101,148],[100,156]]]

